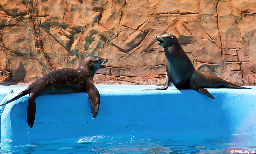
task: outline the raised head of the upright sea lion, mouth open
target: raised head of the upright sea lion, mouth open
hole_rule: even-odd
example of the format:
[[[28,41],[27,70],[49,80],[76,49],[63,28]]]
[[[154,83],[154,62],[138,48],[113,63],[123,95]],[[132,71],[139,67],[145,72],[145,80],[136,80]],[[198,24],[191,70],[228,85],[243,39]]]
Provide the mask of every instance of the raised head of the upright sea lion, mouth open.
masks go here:
[[[177,40],[177,38],[173,34],[163,34],[156,36],[156,40],[160,42],[158,45],[163,48],[168,48],[175,43],[175,40]]]

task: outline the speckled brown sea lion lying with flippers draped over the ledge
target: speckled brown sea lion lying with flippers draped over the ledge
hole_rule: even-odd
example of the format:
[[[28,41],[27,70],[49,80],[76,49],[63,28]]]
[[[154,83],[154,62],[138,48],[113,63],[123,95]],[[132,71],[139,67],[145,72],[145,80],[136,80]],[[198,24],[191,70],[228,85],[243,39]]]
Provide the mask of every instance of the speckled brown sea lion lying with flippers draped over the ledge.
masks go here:
[[[32,128],[35,120],[35,99],[38,96],[47,93],[87,92],[93,118],[95,118],[98,114],[100,97],[93,84],[93,79],[98,69],[106,68],[104,64],[107,62],[107,59],[98,56],[86,57],[77,69],[63,68],[48,73],[1,106],[29,94],[27,120],[28,125]]]

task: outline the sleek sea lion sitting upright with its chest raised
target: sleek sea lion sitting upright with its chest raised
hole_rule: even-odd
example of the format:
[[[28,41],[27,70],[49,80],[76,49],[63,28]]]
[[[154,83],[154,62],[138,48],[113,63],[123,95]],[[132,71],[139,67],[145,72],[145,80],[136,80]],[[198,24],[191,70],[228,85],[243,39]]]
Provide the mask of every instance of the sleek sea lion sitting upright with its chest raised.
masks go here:
[[[158,45],[164,48],[164,54],[167,59],[166,82],[164,87],[145,90],[166,90],[172,84],[177,89],[194,89],[215,99],[204,88],[246,88],[195,69],[175,35],[164,34],[156,36],[156,40],[160,42]]]

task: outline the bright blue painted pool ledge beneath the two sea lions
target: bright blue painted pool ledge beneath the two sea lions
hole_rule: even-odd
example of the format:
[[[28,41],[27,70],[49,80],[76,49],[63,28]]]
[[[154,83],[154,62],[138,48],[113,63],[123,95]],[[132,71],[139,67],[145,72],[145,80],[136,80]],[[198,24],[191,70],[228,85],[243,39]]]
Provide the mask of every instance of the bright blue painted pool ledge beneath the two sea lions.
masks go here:
[[[256,132],[256,87],[141,91],[158,86],[96,85],[100,106],[92,119],[87,93],[47,94],[36,99],[34,126],[27,125],[26,95],[1,110],[1,140],[38,142],[94,135],[186,139]],[[6,88],[4,91],[3,89]],[[1,86],[1,104],[26,87]],[[9,94],[13,90],[14,94]]]

